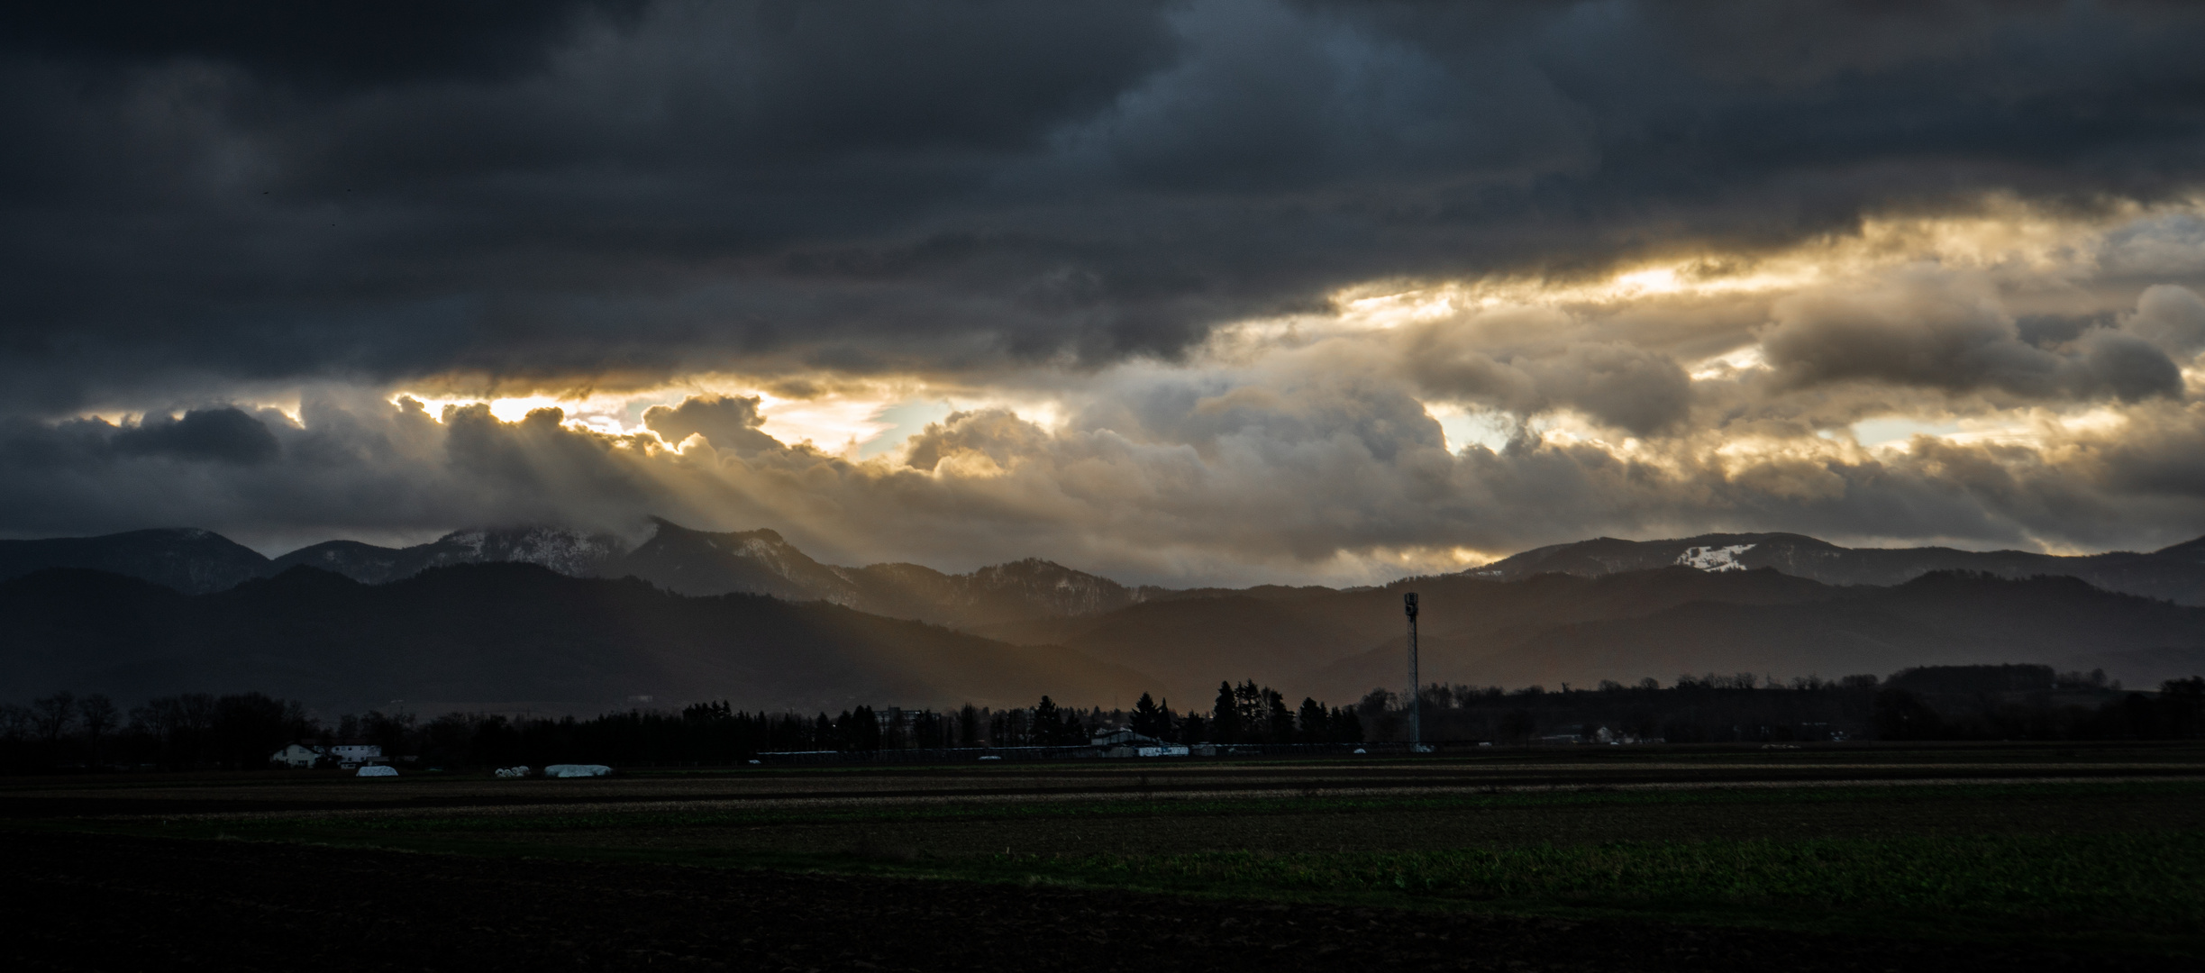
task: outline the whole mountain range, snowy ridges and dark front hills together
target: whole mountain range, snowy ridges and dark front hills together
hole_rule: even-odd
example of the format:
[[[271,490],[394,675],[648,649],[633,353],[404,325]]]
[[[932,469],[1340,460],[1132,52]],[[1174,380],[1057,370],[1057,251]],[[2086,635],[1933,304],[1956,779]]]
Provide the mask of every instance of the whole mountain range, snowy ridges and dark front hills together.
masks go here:
[[[1852,675],[2040,662],[2130,684],[2205,671],[2205,541],[2152,554],[1846,549],[1797,534],[1596,538],[1367,589],[1127,587],[1047,560],[970,574],[836,567],[770,530],[659,521],[280,558],[209,532],[0,541],[0,697],[267,688],[315,706],[415,699],[587,713],[734,699],[1096,706],[1219,680],[1327,702],[1398,691],[1420,591],[1422,675],[1548,688],[1680,673]]]

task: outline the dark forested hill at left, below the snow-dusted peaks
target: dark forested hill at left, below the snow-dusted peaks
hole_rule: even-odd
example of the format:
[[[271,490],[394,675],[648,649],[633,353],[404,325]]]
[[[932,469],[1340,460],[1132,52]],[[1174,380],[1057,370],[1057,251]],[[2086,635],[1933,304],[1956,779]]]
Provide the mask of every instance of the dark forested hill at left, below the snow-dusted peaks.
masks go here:
[[[1111,704],[1160,691],[1069,649],[1025,649],[836,605],[690,598],[536,565],[456,565],[390,585],[293,567],[183,596],[106,571],[0,582],[0,697],[71,688],[141,699],[260,688],[331,710],[534,706],[598,713],[730,699],[747,708]]]

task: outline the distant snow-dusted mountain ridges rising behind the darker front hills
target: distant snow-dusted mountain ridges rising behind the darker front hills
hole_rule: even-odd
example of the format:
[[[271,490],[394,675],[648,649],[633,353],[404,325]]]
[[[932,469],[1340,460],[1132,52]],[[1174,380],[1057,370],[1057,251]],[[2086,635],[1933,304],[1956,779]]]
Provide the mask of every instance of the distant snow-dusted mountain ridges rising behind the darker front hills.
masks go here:
[[[650,518],[650,536],[631,545],[611,534],[520,525],[461,530],[412,547],[324,541],[265,558],[205,530],[137,530],[88,538],[0,541],[0,578],[44,567],[115,571],[183,594],[207,594],[247,578],[273,578],[309,565],[384,585],[430,567],[478,563],[542,565],[576,578],[635,576],[677,594],[765,594],[827,600],[891,618],[955,627],[1032,618],[1096,616],[1169,598],[1248,596],[1263,600],[1330,589],[1162,589],[1127,587],[1050,560],[1025,558],[944,574],[924,565],[836,567],[814,560],[772,530],[703,532]],[[1804,534],[1700,534],[1674,541],[1592,538],[1528,549],[1469,578],[1524,580],[1539,574],[1599,578],[1607,574],[1693,567],[1749,571],[1771,567],[1826,585],[1903,585],[1932,571],[1978,571],[2000,578],[2066,576],[2106,591],[2205,605],[2205,536],[2156,552],[2084,556],[2033,552],[1962,552],[1954,547],[1839,547]]]

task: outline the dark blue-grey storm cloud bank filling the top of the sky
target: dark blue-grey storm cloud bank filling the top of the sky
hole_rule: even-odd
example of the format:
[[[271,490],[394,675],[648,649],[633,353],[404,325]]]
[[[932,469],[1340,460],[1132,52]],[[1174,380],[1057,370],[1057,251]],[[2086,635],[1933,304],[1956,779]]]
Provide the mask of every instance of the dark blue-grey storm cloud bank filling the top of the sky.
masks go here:
[[[2205,11],[2179,4],[9,18],[0,404],[46,415],[240,379],[1173,355],[1367,278],[1771,245],[1987,190],[2152,199],[2194,185],[2205,130]],[[2163,388],[2106,355],[2097,388]]]

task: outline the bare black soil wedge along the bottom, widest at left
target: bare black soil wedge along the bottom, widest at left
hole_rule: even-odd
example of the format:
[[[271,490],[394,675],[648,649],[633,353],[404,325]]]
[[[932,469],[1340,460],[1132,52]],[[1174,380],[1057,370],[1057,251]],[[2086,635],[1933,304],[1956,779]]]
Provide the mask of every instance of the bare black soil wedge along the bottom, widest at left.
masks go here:
[[[2104,969],[2104,958],[1618,920],[46,834],[11,969]]]

